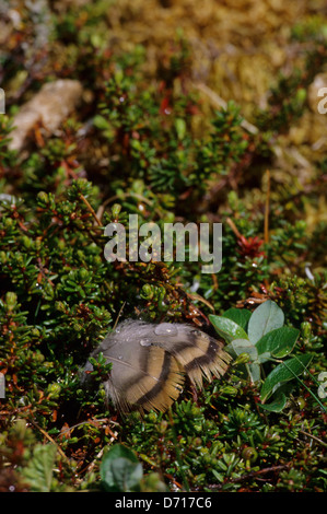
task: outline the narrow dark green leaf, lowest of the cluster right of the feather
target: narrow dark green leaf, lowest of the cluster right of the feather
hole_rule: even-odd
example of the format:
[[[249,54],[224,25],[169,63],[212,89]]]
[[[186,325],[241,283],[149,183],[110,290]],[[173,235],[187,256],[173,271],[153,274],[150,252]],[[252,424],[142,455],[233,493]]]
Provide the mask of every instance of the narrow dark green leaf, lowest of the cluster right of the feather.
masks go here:
[[[272,372],[267,376],[262,384],[260,398],[261,401],[266,401],[267,398],[278,389],[283,383],[293,379],[301,375],[305,367],[312,360],[311,354],[294,357],[284,362],[278,364]]]

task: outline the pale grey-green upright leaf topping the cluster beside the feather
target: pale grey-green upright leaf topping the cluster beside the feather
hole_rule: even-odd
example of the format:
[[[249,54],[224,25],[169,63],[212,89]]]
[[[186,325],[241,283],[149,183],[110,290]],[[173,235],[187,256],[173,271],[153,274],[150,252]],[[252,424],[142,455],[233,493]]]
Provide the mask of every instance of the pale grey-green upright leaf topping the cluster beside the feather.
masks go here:
[[[265,334],[280,328],[284,323],[284,313],[271,300],[261,303],[252,314],[248,322],[248,339],[256,343]]]

